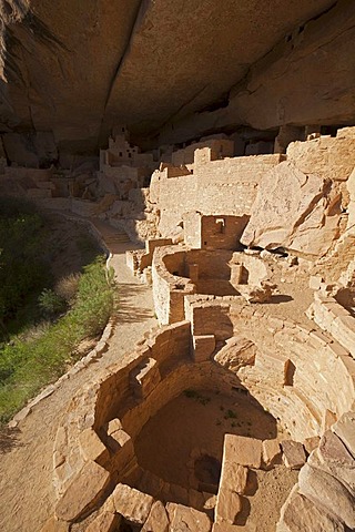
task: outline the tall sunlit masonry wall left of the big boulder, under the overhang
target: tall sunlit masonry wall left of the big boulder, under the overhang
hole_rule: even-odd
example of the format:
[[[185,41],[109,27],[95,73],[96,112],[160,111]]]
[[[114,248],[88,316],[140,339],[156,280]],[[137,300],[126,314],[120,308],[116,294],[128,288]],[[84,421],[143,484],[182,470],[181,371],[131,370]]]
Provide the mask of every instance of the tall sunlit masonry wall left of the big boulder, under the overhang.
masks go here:
[[[170,178],[159,171],[154,172],[150,201],[161,211],[159,229],[162,236],[170,236],[182,222],[184,213],[191,211],[203,215],[250,214],[260,180],[280,161],[280,155],[207,161],[195,163],[191,175]]]

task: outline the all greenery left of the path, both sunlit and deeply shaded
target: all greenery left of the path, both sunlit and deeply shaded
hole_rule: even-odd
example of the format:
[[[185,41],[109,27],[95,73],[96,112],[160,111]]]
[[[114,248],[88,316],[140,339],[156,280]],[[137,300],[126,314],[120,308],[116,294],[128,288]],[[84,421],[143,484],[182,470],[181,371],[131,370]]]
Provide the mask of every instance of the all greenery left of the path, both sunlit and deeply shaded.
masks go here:
[[[36,207],[0,197],[0,423],[82,356],[81,341],[97,337],[112,313],[113,276],[92,239],[77,242],[90,264],[51,289],[48,237]]]

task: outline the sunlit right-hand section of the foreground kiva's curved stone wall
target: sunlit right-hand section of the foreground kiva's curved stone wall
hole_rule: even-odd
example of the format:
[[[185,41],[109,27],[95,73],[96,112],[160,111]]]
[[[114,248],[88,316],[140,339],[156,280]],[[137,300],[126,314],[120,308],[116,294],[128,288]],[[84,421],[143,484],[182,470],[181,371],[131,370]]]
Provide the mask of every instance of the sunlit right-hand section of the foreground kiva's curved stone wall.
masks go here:
[[[255,364],[239,368],[236,375],[295,440],[320,436],[328,419],[353,408],[355,361],[317,327],[271,318],[231,297],[187,296],[185,317],[194,336],[226,341],[242,335],[255,344]]]

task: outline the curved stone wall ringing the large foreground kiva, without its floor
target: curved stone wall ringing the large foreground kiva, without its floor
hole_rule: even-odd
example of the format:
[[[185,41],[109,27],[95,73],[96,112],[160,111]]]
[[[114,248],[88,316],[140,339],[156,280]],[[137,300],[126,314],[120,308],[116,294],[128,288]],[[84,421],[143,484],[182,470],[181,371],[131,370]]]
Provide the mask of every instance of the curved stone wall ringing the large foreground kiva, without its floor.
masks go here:
[[[341,423],[342,415],[354,407],[355,361],[317,330],[271,318],[233,298],[215,300],[195,295],[187,296],[185,304],[191,323],[149,334],[133,352],[104,370],[69,406],[53,454],[57,524],[82,520],[104,501],[101,513],[113,501],[112,513],[144,524],[149,511],[140,518],[142,521],[135,521],[134,511],[128,511],[122,498],[128,492],[128,500],[132,501],[134,495],[153,504],[151,495],[133,487],[150,481],[150,489],[153,482],[160,493],[164,482],[153,474],[146,478],[138,462],[134,441],[144,423],[186,388],[202,387],[236,397],[241,390],[248,392],[297,441],[323,434],[336,419]],[[251,446],[257,447],[260,454],[260,440],[232,439],[243,443],[246,454],[250,456]],[[243,468],[262,467],[261,456],[255,466],[239,457],[236,461]],[[224,512],[223,479],[216,520]],[[179,489],[172,485],[168,493],[173,497]],[[193,505],[193,493],[184,490],[183,494],[185,503]],[[194,519],[199,520],[199,515]],[[206,530],[211,526],[209,521]]]

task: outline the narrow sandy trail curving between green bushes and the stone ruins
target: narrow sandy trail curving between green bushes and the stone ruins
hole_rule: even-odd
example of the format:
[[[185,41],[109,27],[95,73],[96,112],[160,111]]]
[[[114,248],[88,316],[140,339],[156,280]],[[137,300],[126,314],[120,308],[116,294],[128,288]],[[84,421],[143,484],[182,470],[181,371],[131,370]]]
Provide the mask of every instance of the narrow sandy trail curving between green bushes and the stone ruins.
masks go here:
[[[156,326],[151,288],[142,285],[125,266],[125,252],[134,249],[124,234],[108,224],[91,221],[112,253],[119,290],[116,325],[108,351],[82,369],[49,397],[9,434],[0,448],[0,531],[38,532],[52,515],[52,450],[60,420],[74,393],[89,382],[98,370],[118,360],[151,327]]]

